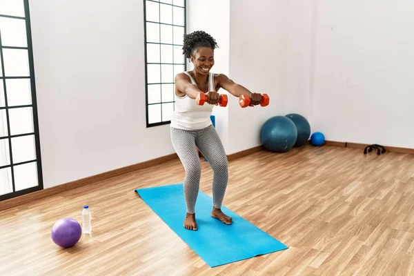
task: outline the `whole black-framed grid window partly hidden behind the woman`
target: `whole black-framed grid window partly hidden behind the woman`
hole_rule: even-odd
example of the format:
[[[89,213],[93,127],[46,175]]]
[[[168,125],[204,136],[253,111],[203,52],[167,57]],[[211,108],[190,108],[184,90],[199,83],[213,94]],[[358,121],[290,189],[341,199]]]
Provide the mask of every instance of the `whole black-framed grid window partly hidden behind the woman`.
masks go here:
[[[174,78],[186,70],[186,0],[144,0],[144,24],[147,127],[170,124]]]

